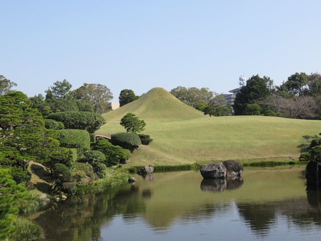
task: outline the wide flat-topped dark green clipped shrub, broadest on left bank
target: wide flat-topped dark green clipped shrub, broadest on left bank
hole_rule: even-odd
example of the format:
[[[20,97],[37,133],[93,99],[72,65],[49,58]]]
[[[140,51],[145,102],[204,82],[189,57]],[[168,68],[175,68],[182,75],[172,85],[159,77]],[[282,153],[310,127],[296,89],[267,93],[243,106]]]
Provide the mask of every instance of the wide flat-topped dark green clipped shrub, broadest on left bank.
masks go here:
[[[86,130],[89,133],[94,133],[106,124],[100,114],[89,111],[63,111],[52,113],[47,118],[62,122],[66,129]]]

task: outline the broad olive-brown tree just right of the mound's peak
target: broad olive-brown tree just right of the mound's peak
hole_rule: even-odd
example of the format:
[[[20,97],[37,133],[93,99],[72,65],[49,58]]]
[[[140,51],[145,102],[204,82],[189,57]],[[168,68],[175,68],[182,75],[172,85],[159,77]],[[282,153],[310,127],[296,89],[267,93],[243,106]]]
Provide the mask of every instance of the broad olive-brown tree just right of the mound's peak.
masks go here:
[[[199,89],[196,87],[186,88],[178,86],[171,90],[171,94],[184,103],[195,108],[199,103],[208,105],[209,101],[213,98],[214,92],[210,91],[209,88]]]

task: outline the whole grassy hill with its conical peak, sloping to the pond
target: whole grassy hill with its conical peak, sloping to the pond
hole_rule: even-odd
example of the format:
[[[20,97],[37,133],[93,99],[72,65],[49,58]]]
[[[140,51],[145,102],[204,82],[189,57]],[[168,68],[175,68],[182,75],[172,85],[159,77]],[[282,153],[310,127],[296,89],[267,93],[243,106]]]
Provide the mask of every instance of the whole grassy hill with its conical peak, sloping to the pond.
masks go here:
[[[130,165],[179,165],[220,160],[297,158],[299,147],[321,131],[321,121],[270,116],[209,117],[163,88],[103,114],[100,133],[124,132],[119,125],[132,112],[146,122],[154,141],[140,146]]]

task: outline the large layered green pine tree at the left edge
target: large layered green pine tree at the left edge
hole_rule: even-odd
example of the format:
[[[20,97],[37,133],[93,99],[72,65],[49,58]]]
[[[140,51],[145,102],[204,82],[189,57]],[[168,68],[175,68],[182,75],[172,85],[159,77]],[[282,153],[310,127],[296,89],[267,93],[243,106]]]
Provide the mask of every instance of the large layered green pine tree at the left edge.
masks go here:
[[[52,134],[45,128],[43,117],[20,91],[0,96],[0,152],[2,164],[25,169],[28,160],[43,161],[46,139]]]

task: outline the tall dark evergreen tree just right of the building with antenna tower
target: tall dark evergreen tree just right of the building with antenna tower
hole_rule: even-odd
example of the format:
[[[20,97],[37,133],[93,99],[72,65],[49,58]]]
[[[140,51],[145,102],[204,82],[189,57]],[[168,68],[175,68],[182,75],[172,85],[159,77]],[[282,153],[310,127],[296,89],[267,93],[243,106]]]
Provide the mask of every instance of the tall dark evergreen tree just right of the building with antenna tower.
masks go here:
[[[258,74],[253,75],[236,94],[233,104],[234,114],[242,115],[247,104],[253,104],[268,97],[272,92],[272,86],[273,80],[269,77],[261,78]]]

